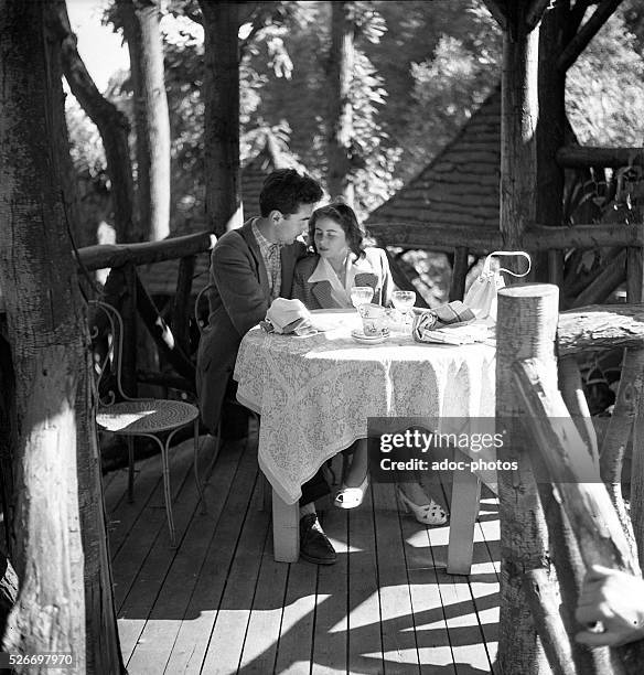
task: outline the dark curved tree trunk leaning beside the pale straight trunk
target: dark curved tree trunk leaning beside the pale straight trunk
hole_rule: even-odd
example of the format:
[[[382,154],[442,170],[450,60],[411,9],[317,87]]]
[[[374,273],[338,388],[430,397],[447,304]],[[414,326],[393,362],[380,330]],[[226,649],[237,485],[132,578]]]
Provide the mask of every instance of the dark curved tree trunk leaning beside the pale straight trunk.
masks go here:
[[[65,79],[87,116],[98,128],[105,148],[107,174],[111,183],[117,242],[141,240],[143,235],[140,232],[140,225],[135,222],[133,217],[135,184],[128,140],[130,124],[112,103],[100,95],[87,72],[76,49],[76,36],[72,32],[65,3],[57,2],[56,10],[58,30],[63,33],[62,54]],[[92,244],[95,243],[96,238]],[[78,243],[77,246],[85,246],[85,244]]]

